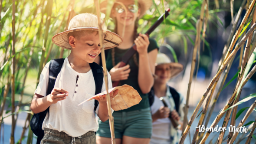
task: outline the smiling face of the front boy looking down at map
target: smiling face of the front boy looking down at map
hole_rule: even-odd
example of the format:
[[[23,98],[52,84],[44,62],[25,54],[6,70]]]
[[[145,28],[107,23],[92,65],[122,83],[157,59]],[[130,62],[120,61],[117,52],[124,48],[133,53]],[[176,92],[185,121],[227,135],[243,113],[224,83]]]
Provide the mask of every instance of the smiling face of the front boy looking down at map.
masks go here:
[[[72,47],[72,54],[79,59],[92,63],[101,52],[100,40],[97,32],[81,36],[76,39],[69,36],[69,44]]]

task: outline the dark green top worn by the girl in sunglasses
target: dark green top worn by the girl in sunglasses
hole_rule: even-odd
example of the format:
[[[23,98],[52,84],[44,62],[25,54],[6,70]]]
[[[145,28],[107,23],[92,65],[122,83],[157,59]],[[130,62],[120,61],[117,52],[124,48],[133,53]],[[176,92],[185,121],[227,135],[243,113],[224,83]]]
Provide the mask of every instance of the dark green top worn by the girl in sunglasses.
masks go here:
[[[149,38],[149,46],[148,46],[148,52],[152,51],[153,49],[159,49],[156,41],[154,39]],[[121,57],[125,54],[125,52],[128,51],[128,49],[118,49],[117,47],[113,48],[115,49],[115,65],[118,64],[118,62],[121,62]],[[106,59],[106,64],[107,64],[107,69],[110,71],[113,68],[112,65],[112,50],[111,49],[108,52],[108,56]],[[138,59],[138,53],[137,53],[137,59]],[[130,85],[134,89],[138,91],[140,94],[142,100],[138,105],[134,105],[131,108],[121,110],[121,111],[135,111],[138,109],[143,109],[143,108],[148,108],[149,107],[149,101],[148,101],[148,94],[143,94],[141,92],[141,88],[139,87],[138,84],[138,66],[135,64],[134,59],[131,58],[128,62],[130,65],[131,72],[129,73],[129,77],[127,80],[122,80],[120,81],[121,85]],[[121,112],[121,111],[116,111],[116,112]]]

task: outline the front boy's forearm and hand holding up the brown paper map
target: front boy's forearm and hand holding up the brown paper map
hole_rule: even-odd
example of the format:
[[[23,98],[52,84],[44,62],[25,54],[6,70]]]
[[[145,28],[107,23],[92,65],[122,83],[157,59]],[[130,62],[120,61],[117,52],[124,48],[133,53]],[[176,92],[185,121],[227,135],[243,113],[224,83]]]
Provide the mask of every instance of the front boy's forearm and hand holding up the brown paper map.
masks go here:
[[[109,96],[110,99],[114,98],[118,94],[118,90],[115,92],[110,92]],[[98,104],[98,117],[99,119],[104,122],[108,120],[108,106],[107,106],[107,98],[106,95],[99,96],[99,98],[95,98],[99,102]]]

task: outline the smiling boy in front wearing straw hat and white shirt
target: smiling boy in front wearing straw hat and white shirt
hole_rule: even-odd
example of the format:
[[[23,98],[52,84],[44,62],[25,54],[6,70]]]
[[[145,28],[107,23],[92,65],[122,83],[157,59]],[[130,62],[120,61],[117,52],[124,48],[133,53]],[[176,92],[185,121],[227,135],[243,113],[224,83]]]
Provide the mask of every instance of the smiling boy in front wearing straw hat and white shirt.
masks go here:
[[[105,49],[121,44],[120,36],[105,30],[105,25],[102,29]],[[41,144],[96,144],[95,131],[98,125],[94,100],[86,101],[83,105],[79,103],[95,95],[95,78],[90,65],[101,52],[97,16],[90,13],[75,16],[67,31],[53,36],[53,43],[71,49],[71,53],[64,60],[56,78],[49,75],[49,62],[40,75],[31,110],[36,114],[49,107],[49,113],[43,121],[44,136]],[[53,91],[46,95],[48,78],[56,79],[56,82]],[[109,73],[108,88],[112,88]],[[103,80],[101,92],[105,90]],[[111,98],[117,93],[110,93]],[[99,102],[95,110],[98,117],[101,121],[108,120],[105,96],[95,100]]]

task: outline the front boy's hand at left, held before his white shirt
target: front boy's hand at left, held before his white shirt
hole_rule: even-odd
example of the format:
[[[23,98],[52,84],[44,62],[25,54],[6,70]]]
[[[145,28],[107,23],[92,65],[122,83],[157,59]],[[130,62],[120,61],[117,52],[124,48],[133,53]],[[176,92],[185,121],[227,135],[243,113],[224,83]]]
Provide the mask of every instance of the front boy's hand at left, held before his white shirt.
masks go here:
[[[52,104],[56,104],[58,101],[66,99],[66,96],[69,95],[69,92],[62,88],[53,88],[53,91],[50,95],[47,95],[47,101]]]

